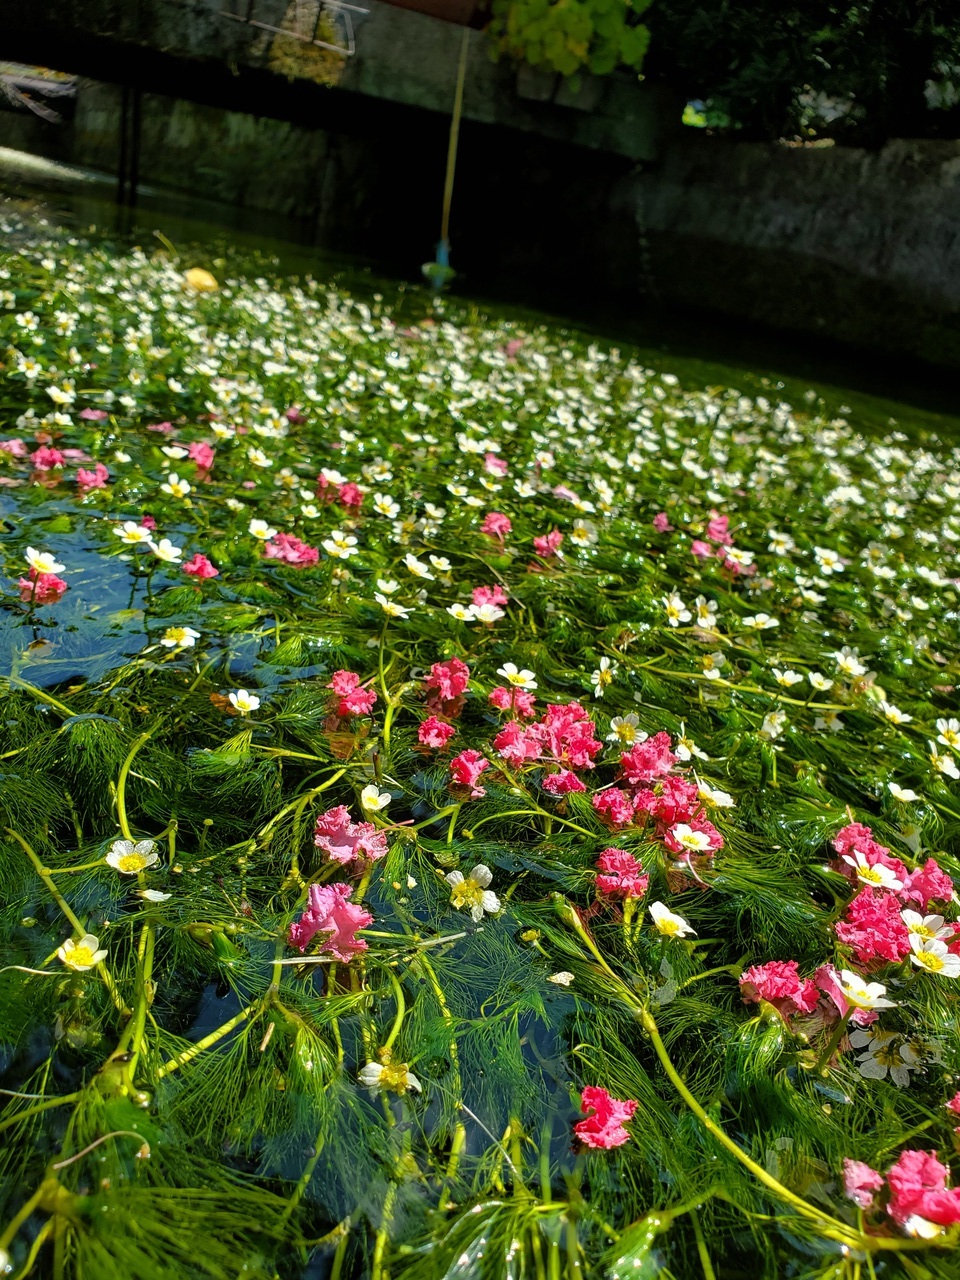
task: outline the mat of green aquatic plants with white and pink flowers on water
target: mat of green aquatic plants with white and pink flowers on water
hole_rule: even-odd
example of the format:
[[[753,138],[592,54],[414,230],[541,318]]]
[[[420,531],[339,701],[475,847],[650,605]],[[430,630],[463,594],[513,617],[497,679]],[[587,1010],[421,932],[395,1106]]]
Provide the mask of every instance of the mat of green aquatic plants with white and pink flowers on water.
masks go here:
[[[12,1274],[950,1277],[957,449],[1,229]]]

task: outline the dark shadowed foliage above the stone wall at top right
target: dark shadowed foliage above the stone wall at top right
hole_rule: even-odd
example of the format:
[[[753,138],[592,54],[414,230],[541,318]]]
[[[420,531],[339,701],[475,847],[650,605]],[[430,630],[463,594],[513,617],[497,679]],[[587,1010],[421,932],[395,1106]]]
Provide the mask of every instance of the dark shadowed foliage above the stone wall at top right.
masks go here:
[[[649,74],[746,137],[876,146],[960,132],[952,0],[658,0],[649,26]]]

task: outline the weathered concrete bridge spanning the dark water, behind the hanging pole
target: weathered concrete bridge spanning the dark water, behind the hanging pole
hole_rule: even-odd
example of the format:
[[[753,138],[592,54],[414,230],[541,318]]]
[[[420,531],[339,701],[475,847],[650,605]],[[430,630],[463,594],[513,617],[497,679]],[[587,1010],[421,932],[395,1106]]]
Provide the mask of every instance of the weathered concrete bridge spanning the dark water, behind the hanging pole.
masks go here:
[[[424,113],[449,116],[465,29],[380,0],[3,0],[0,56],[337,134],[401,137],[430,128]],[[658,154],[667,116],[635,79],[573,95],[557,77],[495,64],[481,32],[466,38],[465,119],[634,161]]]

